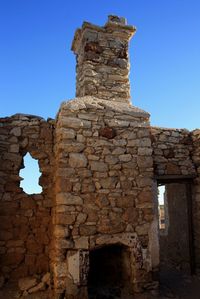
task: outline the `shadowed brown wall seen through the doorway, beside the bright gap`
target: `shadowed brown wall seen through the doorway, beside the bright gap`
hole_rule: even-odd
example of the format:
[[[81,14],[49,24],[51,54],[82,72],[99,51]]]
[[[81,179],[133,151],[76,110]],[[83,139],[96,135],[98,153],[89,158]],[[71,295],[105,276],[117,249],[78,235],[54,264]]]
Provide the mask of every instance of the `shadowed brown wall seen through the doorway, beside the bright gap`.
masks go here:
[[[165,185],[165,229],[160,230],[160,264],[189,274],[192,244],[187,184]]]

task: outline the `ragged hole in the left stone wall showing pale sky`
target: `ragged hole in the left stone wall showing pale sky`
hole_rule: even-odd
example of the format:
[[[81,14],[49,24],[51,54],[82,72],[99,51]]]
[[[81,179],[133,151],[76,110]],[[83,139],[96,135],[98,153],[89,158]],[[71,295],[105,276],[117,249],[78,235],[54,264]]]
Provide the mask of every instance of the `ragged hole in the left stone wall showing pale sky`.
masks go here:
[[[29,153],[24,156],[24,168],[19,173],[22,181],[20,187],[27,194],[40,194],[42,187],[39,185],[41,172],[38,161],[31,157]]]

